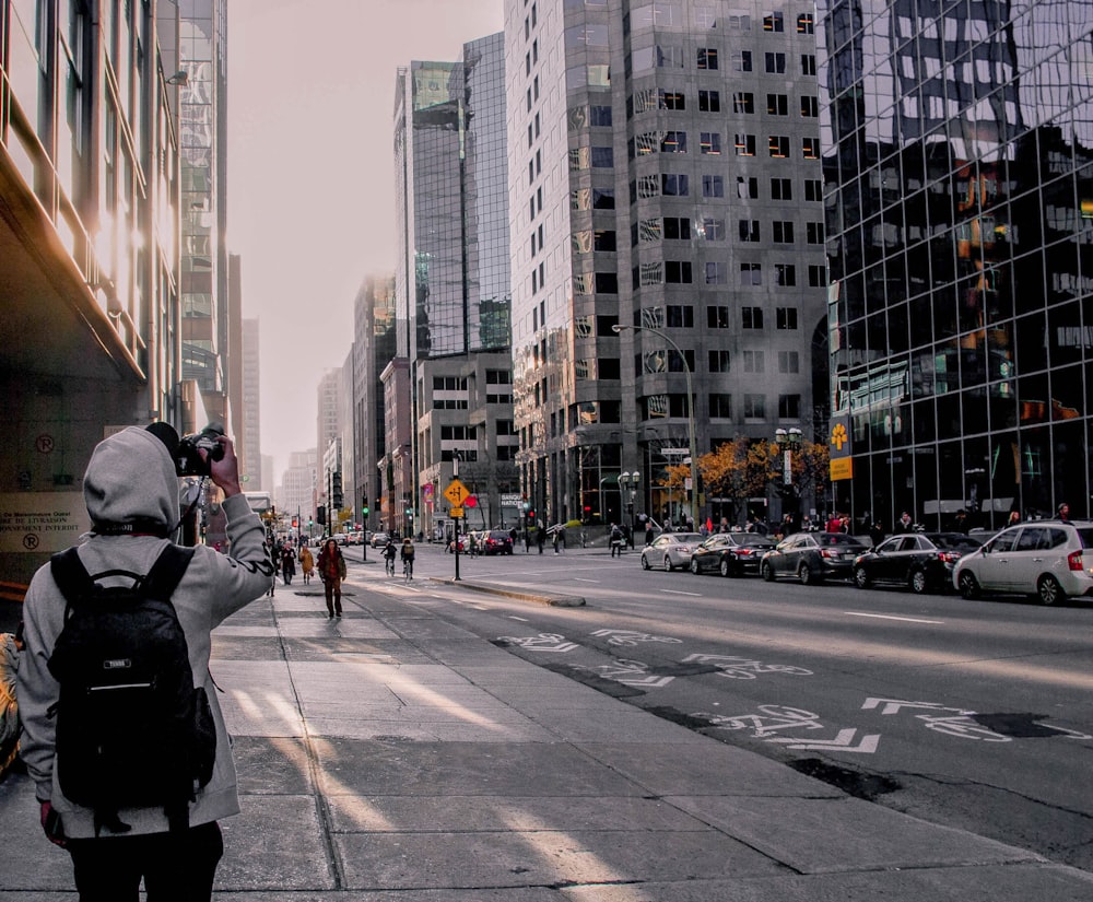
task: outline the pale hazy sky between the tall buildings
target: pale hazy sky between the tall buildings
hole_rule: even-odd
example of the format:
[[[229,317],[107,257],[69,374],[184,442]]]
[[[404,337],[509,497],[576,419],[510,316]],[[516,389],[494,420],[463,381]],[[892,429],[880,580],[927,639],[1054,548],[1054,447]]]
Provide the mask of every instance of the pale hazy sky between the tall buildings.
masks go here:
[[[503,0],[228,0],[228,235],[261,321],[273,479],[315,446],[316,390],[364,277],[395,269],[395,75],[502,31]]]

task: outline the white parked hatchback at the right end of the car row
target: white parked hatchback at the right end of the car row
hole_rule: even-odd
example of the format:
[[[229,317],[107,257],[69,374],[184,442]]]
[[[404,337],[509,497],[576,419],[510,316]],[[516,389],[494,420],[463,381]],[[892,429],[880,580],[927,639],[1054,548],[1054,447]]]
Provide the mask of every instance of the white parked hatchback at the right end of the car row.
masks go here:
[[[1032,595],[1043,605],[1093,595],[1093,523],[1036,520],[1003,529],[953,570],[964,598]],[[1085,560],[1086,552],[1089,560]]]

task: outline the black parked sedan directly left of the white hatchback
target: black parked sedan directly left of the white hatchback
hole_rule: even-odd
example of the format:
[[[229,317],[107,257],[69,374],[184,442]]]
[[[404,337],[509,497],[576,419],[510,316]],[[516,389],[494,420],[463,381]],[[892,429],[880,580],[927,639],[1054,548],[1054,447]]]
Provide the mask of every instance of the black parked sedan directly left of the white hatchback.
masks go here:
[[[961,532],[913,532],[893,536],[854,562],[854,585],[897,583],[912,591],[944,591],[952,585],[953,567],[983,544]]]

